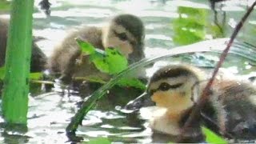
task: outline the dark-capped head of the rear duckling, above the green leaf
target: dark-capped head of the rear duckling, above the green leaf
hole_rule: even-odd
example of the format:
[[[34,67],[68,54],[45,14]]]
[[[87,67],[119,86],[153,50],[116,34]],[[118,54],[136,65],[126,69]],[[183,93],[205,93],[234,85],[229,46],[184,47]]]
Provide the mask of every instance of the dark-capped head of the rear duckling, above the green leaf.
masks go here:
[[[132,14],[120,14],[102,30],[102,44],[105,48],[117,48],[130,63],[144,58],[144,26],[140,18]]]

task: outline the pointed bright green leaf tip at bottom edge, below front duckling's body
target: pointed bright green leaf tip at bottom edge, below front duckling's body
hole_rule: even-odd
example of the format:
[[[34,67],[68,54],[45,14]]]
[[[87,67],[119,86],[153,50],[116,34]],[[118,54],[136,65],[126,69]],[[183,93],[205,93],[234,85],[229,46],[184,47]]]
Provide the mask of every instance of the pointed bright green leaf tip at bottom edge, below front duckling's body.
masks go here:
[[[202,126],[203,134],[206,134],[206,142],[208,143],[228,143],[225,139],[221,138],[217,134],[214,134],[211,130],[207,129],[205,126]]]

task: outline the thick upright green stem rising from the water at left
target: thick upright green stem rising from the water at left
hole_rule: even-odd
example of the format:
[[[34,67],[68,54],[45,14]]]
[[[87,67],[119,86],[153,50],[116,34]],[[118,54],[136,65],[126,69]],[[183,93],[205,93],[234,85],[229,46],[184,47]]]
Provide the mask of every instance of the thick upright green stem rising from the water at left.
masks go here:
[[[8,123],[26,124],[34,0],[13,0],[6,50],[2,112]]]

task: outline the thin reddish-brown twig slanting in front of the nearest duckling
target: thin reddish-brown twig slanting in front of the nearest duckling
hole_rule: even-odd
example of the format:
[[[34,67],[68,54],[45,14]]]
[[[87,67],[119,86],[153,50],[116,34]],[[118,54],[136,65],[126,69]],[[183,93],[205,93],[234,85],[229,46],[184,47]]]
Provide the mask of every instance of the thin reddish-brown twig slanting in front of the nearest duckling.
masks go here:
[[[246,19],[250,15],[251,11],[254,10],[255,5],[256,5],[256,1],[252,4],[252,6],[250,6],[250,8],[247,10],[246,14],[242,17],[241,21],[235,27],[234,32],[230,37],[230,41],[228,42],[228,44],[226,46],[226,49],[223,50],[223,52],[219,58],[218,64],[214,69],[214,73],[213,73],[212,77],[210,78],[210,81],[207,83],[205,89],[202,91],[202,95],[199,99],[198,104],[195,106],[194,110],[192,110],[192,112],[190,114],[190,118],[188,118],[188,120],[186,121],[185,125],[182,128],[182,134],[178,138],[178,142],[180,142],[182,140],[184,133],[191,126],[194,119],[198,118],[198,114],[200,114],[200,110],[201,110],[202,106],[206,103],[206,101],[210,95],[210,86],[214,82],[214,78],[216,77],[216,75],[218,73],[218,69],[222,66],[222,63],[224,62],[226,55],[228,54],[228,51],[230,50],[230,46],[234,42],[234,38],[237,36],[238,32],[241,30],[243,23],[246,21]]]

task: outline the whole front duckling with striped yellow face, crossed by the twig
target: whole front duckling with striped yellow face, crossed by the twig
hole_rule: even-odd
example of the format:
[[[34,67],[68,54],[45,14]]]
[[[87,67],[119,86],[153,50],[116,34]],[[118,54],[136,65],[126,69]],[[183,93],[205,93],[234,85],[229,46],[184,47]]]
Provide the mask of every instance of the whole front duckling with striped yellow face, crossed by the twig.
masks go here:
[[[171,65],[158,70],[148,86],[148,93],[158,107],[150,119],[150,127],[164,134],[181,134],[184,122],[206,86],[205,78],[201,70],[192,66]],[[256,139],[254,86],[247,82],[216,79],[212,87],[210,98],[201,110],[205,125],[234,139]],[[189,134],[201,137],[200,124],[199,120],[193,123],[194,130]]]

